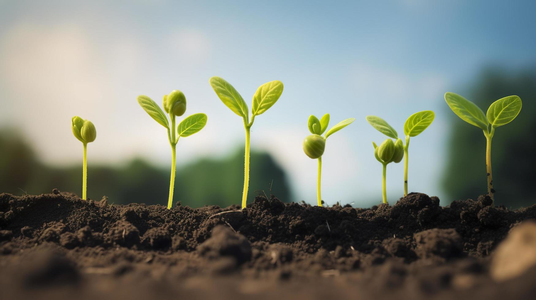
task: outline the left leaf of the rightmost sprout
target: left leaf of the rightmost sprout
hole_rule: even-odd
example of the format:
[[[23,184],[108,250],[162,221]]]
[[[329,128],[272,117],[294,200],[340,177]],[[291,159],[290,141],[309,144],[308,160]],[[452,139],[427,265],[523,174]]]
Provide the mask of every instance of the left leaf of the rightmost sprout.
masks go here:
[[[445,101],[446,104],[449,104],[450,109],[465,122],[480,127],[482,130],[488,129],[488,119],[477,104],[450,92],[445,93]]]

